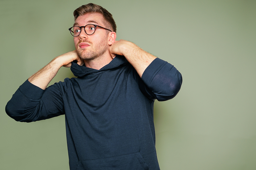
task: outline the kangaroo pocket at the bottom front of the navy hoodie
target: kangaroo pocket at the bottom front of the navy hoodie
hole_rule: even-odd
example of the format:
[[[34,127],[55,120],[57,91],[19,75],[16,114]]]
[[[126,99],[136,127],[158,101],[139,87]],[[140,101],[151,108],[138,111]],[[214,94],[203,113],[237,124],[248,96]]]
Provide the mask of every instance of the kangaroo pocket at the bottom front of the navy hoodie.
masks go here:
[[[104,159],[79,160],[76,170],[148,170],[140,152]]]

